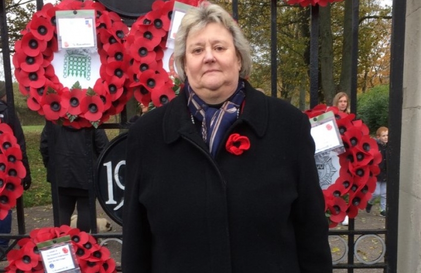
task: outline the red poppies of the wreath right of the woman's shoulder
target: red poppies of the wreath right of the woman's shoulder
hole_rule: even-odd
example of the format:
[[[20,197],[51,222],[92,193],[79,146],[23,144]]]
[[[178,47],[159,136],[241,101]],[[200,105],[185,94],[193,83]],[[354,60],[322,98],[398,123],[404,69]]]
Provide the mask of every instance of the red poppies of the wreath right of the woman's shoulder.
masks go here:
[[[325,213],[329,227],[334,228],[346,215],[355,218],[359,209],[365,209],[376,188],[381,154],[377,143],[370,138],[369,129],[355,114],[340,112],[337,107],[324,104],[305,111],[309,118],[332,111],[338,125],[345,152],[339,157],[339,177],[327,189]]]

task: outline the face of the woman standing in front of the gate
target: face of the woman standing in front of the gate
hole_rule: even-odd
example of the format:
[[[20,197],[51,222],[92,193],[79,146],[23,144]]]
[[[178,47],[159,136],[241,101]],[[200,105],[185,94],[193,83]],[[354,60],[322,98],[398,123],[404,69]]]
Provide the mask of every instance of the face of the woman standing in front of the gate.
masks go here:
[[[237,88],[241,59],[231,33],[219,23],[189,33],[184,65],[190,86],[206,103],[222,103]]]

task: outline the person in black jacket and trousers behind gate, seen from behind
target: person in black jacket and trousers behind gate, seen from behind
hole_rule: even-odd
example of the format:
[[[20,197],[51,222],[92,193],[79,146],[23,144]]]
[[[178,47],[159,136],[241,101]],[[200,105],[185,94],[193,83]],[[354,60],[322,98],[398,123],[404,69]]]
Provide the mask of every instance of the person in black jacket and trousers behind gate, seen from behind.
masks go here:
[[[89,181],[96,158],[109,143],[103,129],[76,129],[47,123],[41,134],[40,152],[47,181],[57,184],[59,223],[70,225],[78,211],[77,228],[90,231]]]

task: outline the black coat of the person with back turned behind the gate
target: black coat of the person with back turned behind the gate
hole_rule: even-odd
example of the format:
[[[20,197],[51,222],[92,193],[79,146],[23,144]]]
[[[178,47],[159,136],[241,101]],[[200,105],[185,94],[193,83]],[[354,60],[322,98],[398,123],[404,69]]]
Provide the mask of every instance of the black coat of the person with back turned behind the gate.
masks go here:
[[[50,124],[51,128],[44,126],[40,142],[47,181],[58,187],[88,190],[96,158],[109,142],[105,131]]]

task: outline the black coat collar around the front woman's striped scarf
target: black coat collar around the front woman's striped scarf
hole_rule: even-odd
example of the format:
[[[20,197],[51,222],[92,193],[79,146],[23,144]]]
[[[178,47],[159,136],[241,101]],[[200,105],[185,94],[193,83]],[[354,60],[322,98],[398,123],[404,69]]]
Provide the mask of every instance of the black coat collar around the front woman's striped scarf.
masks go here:
[[[244,105],[234,125],[242,122],[247,123],[256,135],[262,138],[269,120],[268,99],[264,94],[254,89],[248,81],[245,81]],[[197,144],[203,143],[205,147],[203,140],[201,140],[192,124],[184,90],[168,104],[162,122],[165,143],[175,142],[180,136],[184,135]]]

